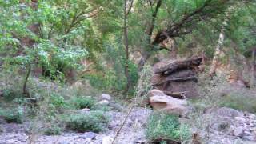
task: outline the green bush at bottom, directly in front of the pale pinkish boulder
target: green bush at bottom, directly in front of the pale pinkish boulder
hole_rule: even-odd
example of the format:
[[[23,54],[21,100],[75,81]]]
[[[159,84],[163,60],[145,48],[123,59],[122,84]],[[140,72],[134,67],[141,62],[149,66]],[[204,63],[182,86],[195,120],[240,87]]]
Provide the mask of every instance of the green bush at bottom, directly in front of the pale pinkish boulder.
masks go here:
[[[178,116],[154,113],[150,115],[146,127],[146,138],[155,140],[166,138],[182,141],[189,137],[189,129],[178,122]]]

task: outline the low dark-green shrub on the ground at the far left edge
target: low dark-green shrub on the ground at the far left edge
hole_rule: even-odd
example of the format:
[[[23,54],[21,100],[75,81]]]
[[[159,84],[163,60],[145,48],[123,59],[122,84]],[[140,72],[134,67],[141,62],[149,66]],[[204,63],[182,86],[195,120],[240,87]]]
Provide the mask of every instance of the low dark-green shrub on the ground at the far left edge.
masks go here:
[[[3,111],[2,116],[8,123],[22,123],[24,121],[24,114],[21,109]]]

